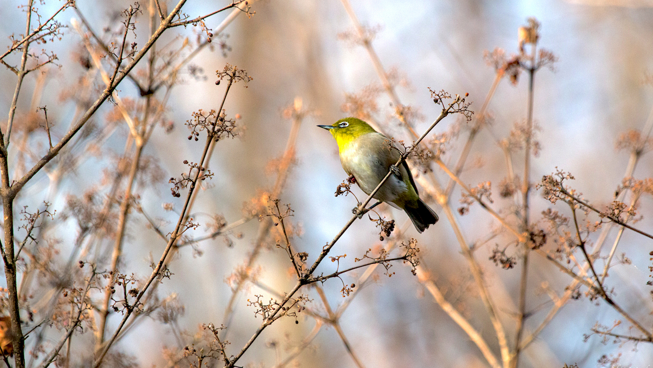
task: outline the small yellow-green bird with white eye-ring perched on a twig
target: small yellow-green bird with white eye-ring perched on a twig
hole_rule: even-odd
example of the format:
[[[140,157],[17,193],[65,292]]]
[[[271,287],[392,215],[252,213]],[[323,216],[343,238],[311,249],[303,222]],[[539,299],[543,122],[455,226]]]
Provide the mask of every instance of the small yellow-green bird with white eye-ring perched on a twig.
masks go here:
[[[342,168],[347,175],[353,176],[360,189],[368,195],[401,156],[400,150],[392,145],[388,137],[360,119],[344,118],[333,125],[317,126],[328,129],[336,139]],[[374,198],[378,202],[370,209],[385,202],[396,209],[405,210],[420,233],[429,225],[438,222],[436,212],[419,199],[406,161],[402,162],[399,170],[394,170]]]

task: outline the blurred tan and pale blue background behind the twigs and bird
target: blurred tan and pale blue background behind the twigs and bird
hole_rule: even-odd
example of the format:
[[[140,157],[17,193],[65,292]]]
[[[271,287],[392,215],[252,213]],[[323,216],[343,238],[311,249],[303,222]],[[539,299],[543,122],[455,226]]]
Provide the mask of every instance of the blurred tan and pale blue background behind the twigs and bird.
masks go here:
[[[0,0],[3,9],[0,32],[3,35],[24,31],[19,4],[19,1]],[[78,1],[77,4],[98,29],[109,25],[116,12],[128,5],[128,1]],[[593,203],[611,201],[628,162],[628,152],[614,149],[616,138],[627,129],[641,129],[653,106],[653,88],[643,82],[653,68],[653,5],[650,1],[353,0],[351,5],[362,24],[379,29],[374,48],[383,66],[387,70],[396,68],[406,81],[397,92],[404,104],[421,112],[423,120],[415,127],[418,132],[426,129],[439,114],[428,87],[450,93],[470,93],[471,109],[479,109],[494,80],[494,69],[486,65],[483,53],[496,47],[505,49],[507,54],[517,52],[518,27],[526,24],[528,17],[537,18],[541,22],[539,46],[552,51],[558,62],[554,64],[554,71],[543,69],[535,78],[534,116],[541,127],[538,140],[542,150],[532,163],[532,180],[537,182],[541,175],[560,167],[573,173],[577,180],[571,185],[587,199]],[[47,1],[42,8],[48,12],[59,6],[57,1]],[[189,1],[183,11],[195,16],[211,12],[217,6],[215,2]],[[215,213],[223,214],[229,223],[234,222],[242,217],[244,203],[257,195],[257,190],[272,186],[275,176],[266,173],[266,166],[270,159],[283,152],[291,127],[282,111],[300,97],[304,107],[314,113],[305,118],[300,127],[296,162],[280,199],[295,210],[291,221],[302,229],[302,234],[293,239],[293,246],[298,251],[308,252],[310,259],[314,259],[321,246],[347,222],[356,204],[351,196],[334,197],[336,186],[346,175],[340,167],[332,137],[315,125],[332,124],[345,117],[341,109],[345,93],[358,93],[379,80],[366,51],[338,39],[339,33],[353,29],[340,1],[263,0],[253,3],[253,10],[256,11],[254,16],[239,16],[225,30],[232,48],[226,57],[219,51],[204,50],[194,59],[193,64],[204,70],[206,80],[188,76],[183,84],[174,88],[168,103],[168,116],[175,124],[174,131],[164,133],[163,129],[157,129],[146,154],[157,158],[165,171],[164,178],[179,175],[183,171],[183,159],[197,158],[202,148],[202,144],[186,139],[189,133],[183,122],[193,111],[217,109],[223,96],[223,85],[215,86],[214,72],[227,62],[246,69],[253,81],[248,88],[234,86],[225,105],[227,114],[242,116],[238,124],[246,129],[236,139],[217,144],[211,162],[215,177],[199,193],[194,209],[200,222]],[[219,24],[225,15],[209,18],[208,27]],[[74,17],[74,12],[66,12],[61,22],[70,24]],[[193,35],[193,27],[175,31]],[[170,37],[168,35],[168,39]],[[79,42],[80,37],[69,29],[61,41],[48,45],[49,50],[57,52],[61,68],[49,72],[40,105],[48,105],[51,121],[61,121],[54,128],[59,129],[60,134],[69,124],[66,119],[70,118],[72,107],[57,102],[57,95],[61,86],[71,85],[80,71],[73,59]],[[26,83],[33,86],[35,78],[27,78]],[[15,76],[2,69],[0,100],[5,102],[0,105],[0,116],[8,113],[14,86]],[[128,81],[119,89],[124,96],[137,94]],[[481,159],[484,164],[464,171],[462,178],[468,184],[485,180],[498,184],[505,176],[497,139],[507,137],[513,124],[526,118],[526,92],[526,75],[522,75],[517,86],[507,80],[498,86],[488,107],[494,122],[481,131],[472,151],[473,158]],[[29,107],[30,99],[30,93],[22,95],[19,111]],[[397,139],[409,141],[398,120],[391,117],[389,102],[389,98],[381,94],[377,120]],[[107,110],[105,107],[101,114],[106,114]],[[101,117],[97,120],[101,121]],[[455,123],[456,118],[445,119],[436,127],[436,133],[447,131]],[[123,150],[126,134],[126,127],[117,129],[103,148],[119,153]],[[462,133],[462,137],[466,135]],[[462,142],[464,138],[453,145],[445,162],[455,163]],[[518,165],[521,162],[521,159],[516,161]],[[42,173],[26,188],[18,203],[37,206],[48,200],[57,211],[64,211],[65,194],[79,193],[96,184],[108,165],[112,165],[111,161],[103,157],[89,158],[74,175],[61,182],[54,197],[48,197],[48,176]],[[651,157],[645,156],[635,170],[635,177],[651,176],[652,167]],[[448,180],[437,170],[435,175],[441,182]],[[170,196],[169,185],[161,180],[154,186],[137,187],[136,192],[140,194],[144,209],[172,221],[174,214],[164,212],[162,204],[173,203],[179,207],[182,202]],[[355,193],[361,192],[356,188]],[[456,189],[454,197],[459,195],[460,190]],[[359,195],[358,198],[363,197]],[[497,200],[495,205],[500,207],[502,203]],[[652,204],[650,197],[643,198],[640,209],[644,218],[638,227],[651,229]],[[534,194],[532,213],[537,214],[549,206],[539,193]],[[432,207],[439,212],[437,205],[432,203]],[[385,210],[398,225],[406,221],[403,212]],[[138,214],[132,216],[123,267],[136,275],[146,276],[151,272],[148,259],[158,259],[163,243],[153,231],[144,230],[143,218]],[[485,237],[496,225],[478,205],[471,208],[470,214],[461,216],[460,223],[470,242]],[[215,239],[199,244],[201,256],[194,254],[191,248],[176,254],[170,263],[174,276],[165,280],[159,292],[178,294],[185,306],[185,314],[180,318],[183,329],[192,334],[198,324],[223,323],[223,312],[231,296],[225,278],[251,252],[258,226],[254,219],[238,227],[236,232],[242,233],[242,237],[231,237],[232,246],[227,246],[223,239]],[[52,231],[52,236],[61,240],[65,250],[78,230],[71,220]],[[195,233],[201,235],[203,231],[200,227]],[[422,234],[409,227],[407,235],[419,241],[424,263],[432,270],[436,282],[443,288],[454,285],[450,295],[460,294],[464,314],[498,354],[494,331],[470,284],[467,263],[447,220],[443,218]],[[358,221],[336,245],[333,255],[346,253],[347,264],[353,264],[354,257],[360,257],[378,243],[378,229],[374,224]],[[646,327],[651,327],[652,303],[646,280],[650,278],[648,252],[652,248],[650,241],[626,231],[620,252],[633,263],[614,267],[608,279],[608,286],[615,288],[616,299],[645,321]],[[488,260],[489,255],[490,246],[476,253],[500,306],[502,320],[506,326],[513,326],[510,312],[517,304],[518,269],[496,267]],[[287,273],[288,259],[282,250],[264,250],[257,264],[261,267],[259,280],[264,284],[279,292],[294,285]],[[334,263],[325,262],[319,272],[328,273],[334,269]],[[396,275],[391,278],[381,275],[377,282],[367,285],[342,316],[343,332],[364,366],[485,367],[476,346],[424,292],[424,287],[409,269],[396,264],[392,270]],[[353,276],[360,273],[343,279],[351,282],[355,280]],[[571,280],[541,259],[532,264],[528,309],[533,310],[535,316],[527,323],[530,328],[537,326],[548,310],[546,304],[538,309],[548,300],[547,295],[537,292],[544,281],[562,292]],[[455,290],[456,285],[460,290]],[[323,288],[332,305],[345,301],[340,294],[339,280],[328,280]],[[253,309],[246,307],[247,299],[254,294],[269,295],[249,285],[237,299],[228,335],[229,350],[233,353],[240,350],[261,322],[260,316],[255,318]],[[584,297],[571,301],[524,352],[521,366],[562,367],[564,363],[577,363],[579,367],[594,367],[604,354],[622,354],[622,366],[646,367],[653,362],[650,344],[639,344],[633,349],[631,343],[623,346],[603,344],[597,336],[584,341],[583,335],[590,333],[597,321],[611,325],[616,319],[618,315],[604,302],[593,303]],[[264,331],[240,363],[274,366],[279,354],[281,357],[287,354],[285,347],[304,339],[315,324],[313,318],[306,316],[299,321],[299,324],[290,319],[276,322]],[[110,326],[117,323],[118,318],[110,320]],[[507,328],[511,331],[511,327]],[[135,356],[142,367],[165,367],[162,348],[177,345],[169,326],[146,319],[119,344],[119,348]],[[355,367],[336,331],[330,327],[321,329],[296,363],[300,367]]]

